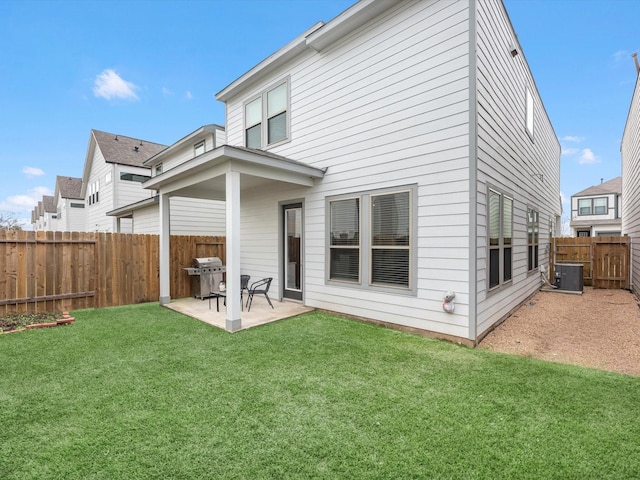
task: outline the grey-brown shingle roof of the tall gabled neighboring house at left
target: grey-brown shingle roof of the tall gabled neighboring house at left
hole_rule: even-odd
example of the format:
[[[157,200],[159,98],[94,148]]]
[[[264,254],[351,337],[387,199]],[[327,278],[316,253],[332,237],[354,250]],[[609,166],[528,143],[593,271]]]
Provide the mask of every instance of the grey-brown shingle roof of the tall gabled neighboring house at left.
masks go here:
[[[144,162],[167,148],[166,145],[139,138],[125,137],[100,130],[91,130],[91,132],[107,163],[149,168],[145,167]]]

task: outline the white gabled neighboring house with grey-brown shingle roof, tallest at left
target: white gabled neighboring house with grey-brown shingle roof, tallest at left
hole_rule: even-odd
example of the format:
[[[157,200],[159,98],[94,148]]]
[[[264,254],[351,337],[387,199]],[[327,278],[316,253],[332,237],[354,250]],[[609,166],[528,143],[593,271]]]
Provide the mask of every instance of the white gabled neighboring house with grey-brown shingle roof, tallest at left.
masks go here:
[[[107,212],[148,199],[153,192],[142,188],[150,178],[144,162],[166,145],[91,130],[82,174],[85,199],[84,230],[130,233],[130,219],[119,221]]]

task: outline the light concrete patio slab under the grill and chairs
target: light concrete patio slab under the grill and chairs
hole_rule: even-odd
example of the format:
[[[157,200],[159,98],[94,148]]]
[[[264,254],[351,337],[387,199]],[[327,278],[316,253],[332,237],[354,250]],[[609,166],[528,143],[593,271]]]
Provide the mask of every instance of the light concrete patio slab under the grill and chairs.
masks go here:
[[[220,311],[216,311],[216,299],[211,299],[211,308],[209,308],[209,300],[201,300],[199,298],[179,298],[172,300],[165,307],[175,310],[189,317],[196,318],[204,323],[213,325],[214,327],[226,330],[227,307],[220,300]],[[245,296],[246,302],[246,296]],[[251,311],[244,310],[240,312],[240,320],[242,326],[239,330],[265,325],[267,323],[276,322],[285,318],[295,317],[306,312],[310,312],[313,308],[305,307],[297,302],[279,301],[271,299],[273,307],[271,308],[264,297],[256,296]],[[239,302],[238,302],[239,303]]]

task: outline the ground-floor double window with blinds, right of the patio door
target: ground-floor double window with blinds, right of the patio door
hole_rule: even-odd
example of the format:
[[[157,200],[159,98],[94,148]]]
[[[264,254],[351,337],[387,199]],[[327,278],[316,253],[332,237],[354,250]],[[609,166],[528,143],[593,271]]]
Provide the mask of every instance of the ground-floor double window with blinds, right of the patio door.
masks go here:
[[[413,189],[330,200],[329,280],[412,288]]]

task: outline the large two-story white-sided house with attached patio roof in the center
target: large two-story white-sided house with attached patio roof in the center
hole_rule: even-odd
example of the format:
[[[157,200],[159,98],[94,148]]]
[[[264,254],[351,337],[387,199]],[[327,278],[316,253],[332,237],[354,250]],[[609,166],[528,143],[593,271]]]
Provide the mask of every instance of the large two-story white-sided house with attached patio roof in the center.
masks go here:
[[[224,200],[227,296],[474,344],[541,285],[560,145],[500,0],[361,0],[223,88],[226,144],[153,176]],[[242,327],[227,301],[226,328]]]

